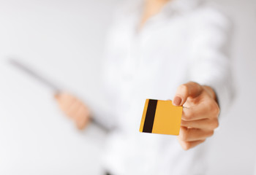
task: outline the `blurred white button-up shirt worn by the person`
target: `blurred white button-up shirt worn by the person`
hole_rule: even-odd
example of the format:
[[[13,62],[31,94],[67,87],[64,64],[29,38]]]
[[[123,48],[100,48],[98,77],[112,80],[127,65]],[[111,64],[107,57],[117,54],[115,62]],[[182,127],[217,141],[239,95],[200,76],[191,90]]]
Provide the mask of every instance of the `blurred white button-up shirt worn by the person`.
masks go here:
[[[104,61],[110,112],[96,120],[113,126],[104,167],[111,174],[206,174],[206,144],[184,151],[176,136],[140,133],[146,98],[172,99],[178,85],[195,81],[230,101],[227,36],[230,23],[202,1],[173,0],[138,31],[142,2],[116,13]]]

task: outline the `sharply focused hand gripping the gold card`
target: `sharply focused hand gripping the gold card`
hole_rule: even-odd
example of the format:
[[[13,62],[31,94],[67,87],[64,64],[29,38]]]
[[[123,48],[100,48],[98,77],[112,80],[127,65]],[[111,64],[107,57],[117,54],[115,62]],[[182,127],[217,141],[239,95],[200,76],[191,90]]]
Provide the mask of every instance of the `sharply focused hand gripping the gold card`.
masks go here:
[[[178,141],[185,150],[206,141],[219,126],[217,97],[208,86],[196,82],[179,86],[173,105],[184,106]]]

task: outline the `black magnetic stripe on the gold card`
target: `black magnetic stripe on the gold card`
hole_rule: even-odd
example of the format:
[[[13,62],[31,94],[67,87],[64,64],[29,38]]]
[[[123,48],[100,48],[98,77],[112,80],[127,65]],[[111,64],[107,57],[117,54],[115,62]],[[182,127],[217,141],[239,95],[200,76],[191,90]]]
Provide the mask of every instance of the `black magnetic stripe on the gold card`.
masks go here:
[[[146,112],[145,122],[143,126],[143,132],[144,133],[151,133],[153,124],[154,124],[154,114],[156,113],[157,109],[157,100],[151,100],[148,101],[148,109]]]

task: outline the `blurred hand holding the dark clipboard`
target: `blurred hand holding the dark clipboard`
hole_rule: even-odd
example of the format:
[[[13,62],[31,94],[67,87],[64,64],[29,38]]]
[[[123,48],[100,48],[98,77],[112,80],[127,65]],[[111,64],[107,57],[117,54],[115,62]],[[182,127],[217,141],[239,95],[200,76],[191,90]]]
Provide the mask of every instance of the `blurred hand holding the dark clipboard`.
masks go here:
[[[55,96],[60,109],[74,120],[78,129],[82,130],[89,123],[90,112],[82,101],[69,93],[58,93]]]

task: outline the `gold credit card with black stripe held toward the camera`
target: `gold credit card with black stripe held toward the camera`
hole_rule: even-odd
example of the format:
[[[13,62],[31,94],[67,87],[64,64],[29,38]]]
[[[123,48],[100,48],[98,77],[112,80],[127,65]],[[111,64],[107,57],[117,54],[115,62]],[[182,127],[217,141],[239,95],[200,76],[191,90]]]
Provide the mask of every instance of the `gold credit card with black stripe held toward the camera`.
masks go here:
[[[182,106],[173,106],[172,101],[146,99],[140,132],[178,136],[182,109]]]

